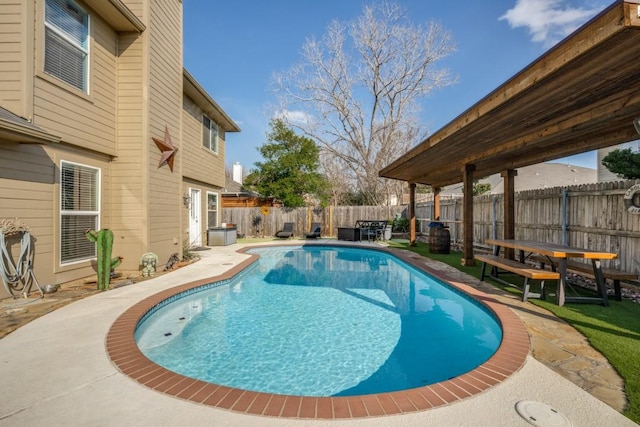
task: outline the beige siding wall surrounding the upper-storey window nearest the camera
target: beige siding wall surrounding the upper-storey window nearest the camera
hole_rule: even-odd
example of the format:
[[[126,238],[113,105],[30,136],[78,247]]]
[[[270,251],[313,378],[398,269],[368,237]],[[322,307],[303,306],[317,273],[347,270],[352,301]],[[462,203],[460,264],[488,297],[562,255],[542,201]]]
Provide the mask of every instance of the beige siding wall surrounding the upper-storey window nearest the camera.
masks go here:
[[[65,143],[115,155],[117,34],[100,17],[90,15],[87,95],[43,72],[42,6],[38,9],[34,123],[60,135]]]

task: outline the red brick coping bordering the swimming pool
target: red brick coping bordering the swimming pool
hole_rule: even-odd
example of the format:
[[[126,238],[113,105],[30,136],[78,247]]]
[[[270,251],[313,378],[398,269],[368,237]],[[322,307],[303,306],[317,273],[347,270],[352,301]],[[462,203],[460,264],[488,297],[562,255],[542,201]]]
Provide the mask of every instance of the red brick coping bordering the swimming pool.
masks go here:
[[[340,246],[363,248],[361,245]],[[259,246],[245,247],[238,252],[244,253],[255,247]],[[303,419],[379,417],[448,405],[490,389],[506,380],[524,365],[530,349],[529,335],[521,320],[507,306],[500,304],[496,299],[478,289],[455,281],[446,274],[425,266],[420,262],[421,257],[412,252],[372,246],[365,248],[387,252],[436,276],[486,306],[494,313],[502,326],[502,342],[498,350],[482,365],[451,380],[390,393],[340,397],[287,396],[212,384],[176,374],[156,365],[142,354],[136,345],[134,332],[140,319],[149,310],[178,293],[233,278],[257,260],[257,255],[251,255],[250,258],[221,275],[185,283],[161,291],[134,304],[111,326],[106,338],[107,353],[123,374],[152,390],[194,403],[239,413]]]

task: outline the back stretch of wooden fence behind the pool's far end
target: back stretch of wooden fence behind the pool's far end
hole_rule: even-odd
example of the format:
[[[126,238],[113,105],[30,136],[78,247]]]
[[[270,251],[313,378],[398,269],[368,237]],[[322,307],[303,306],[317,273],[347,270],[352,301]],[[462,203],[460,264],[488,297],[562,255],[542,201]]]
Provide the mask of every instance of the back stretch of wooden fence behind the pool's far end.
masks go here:
[[[238,234],[273,237],[285,222],[293,222],[294,236],[304,236],[312,222],[322,225],[322,236],[335,237],[338,227],[353,227],[358,220],[390,220],[407,216],[406,206],[329,206],[326,208],[227,208],[222,222],[235,224]]]

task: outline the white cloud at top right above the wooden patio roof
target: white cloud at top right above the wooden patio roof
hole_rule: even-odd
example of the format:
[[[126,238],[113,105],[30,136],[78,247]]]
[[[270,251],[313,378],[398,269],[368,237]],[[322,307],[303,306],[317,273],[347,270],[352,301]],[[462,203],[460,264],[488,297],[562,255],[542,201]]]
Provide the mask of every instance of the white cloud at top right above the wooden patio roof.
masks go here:
[[[602,7],[574,7],[566,0],[517,0],[499,19],[506,20],[511,28],[528,28],[534,42],[551,46],[601,10]]]

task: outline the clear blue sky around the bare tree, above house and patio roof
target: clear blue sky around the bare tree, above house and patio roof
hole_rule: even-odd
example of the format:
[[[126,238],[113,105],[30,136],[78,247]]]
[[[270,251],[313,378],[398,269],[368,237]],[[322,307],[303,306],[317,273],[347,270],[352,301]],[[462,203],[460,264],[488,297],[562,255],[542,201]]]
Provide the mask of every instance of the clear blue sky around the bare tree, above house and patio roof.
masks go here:
[[[372,0],[375,1],[375,0]],[[334,19],[352,20],[363,0],[184,0],[184,65],[242,132],[227,135],[226,162],[261,160],[275,100],[274,73],[299,62],[304,41]],[[433,133],[526,67],[613,0],[398,0],[414,23],[439,22],[456,51],[440,63],[457,77],[422,102]],[[393,160],[393,159],[391,159]],[[595,168],[595,153],[562,159]]]

